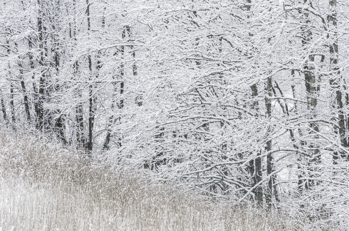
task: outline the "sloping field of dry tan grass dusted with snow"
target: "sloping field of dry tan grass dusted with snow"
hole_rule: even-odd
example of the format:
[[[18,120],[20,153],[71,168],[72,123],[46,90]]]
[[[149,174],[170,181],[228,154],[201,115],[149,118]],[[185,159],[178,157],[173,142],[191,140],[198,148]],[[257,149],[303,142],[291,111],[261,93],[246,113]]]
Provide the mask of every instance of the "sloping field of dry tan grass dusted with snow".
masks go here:
[[[338,230],[210,201],[41,135],[0,132],[0,230]]]

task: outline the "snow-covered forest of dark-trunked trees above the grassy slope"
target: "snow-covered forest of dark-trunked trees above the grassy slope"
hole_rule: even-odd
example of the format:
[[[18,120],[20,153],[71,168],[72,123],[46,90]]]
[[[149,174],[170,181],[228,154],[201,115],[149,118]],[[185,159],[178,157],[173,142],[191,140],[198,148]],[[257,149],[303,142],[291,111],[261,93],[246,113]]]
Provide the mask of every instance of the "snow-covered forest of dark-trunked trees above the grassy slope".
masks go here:
[[[0,1],[1,130],[349,225],[346,0]]]

